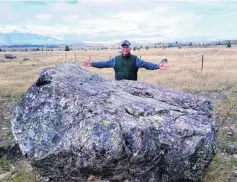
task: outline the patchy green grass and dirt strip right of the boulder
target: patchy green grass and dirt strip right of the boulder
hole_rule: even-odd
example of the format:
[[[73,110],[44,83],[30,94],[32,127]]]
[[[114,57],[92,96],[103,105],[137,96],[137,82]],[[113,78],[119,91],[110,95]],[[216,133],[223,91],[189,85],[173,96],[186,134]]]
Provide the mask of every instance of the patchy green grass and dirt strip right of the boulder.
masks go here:
[[[237,134],[228,134],[230,126],[236,124],[237,118],[237,95],[230,93],[226,100],[220,100],[214,105],[214,119],[217,135],[217,154],[213,158],[203,182],[229,182],[237,167],[237,160],[233,159],[228,152],[230,146],[237,147]],[[235,153],[237,151],[233,151]]]

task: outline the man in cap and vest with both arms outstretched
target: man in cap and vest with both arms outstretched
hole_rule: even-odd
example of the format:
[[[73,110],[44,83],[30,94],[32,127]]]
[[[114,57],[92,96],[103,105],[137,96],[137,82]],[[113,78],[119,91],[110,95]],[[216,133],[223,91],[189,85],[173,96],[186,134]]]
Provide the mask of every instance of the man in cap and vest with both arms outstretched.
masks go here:
[[[95,68],[114,68],[116,80],[137,80],[137,72],[139,68],[147,70],[165,70],[167,59],[162,60],[160,64],[153,64],[139,59],[137,56],[130,53],[131,47],[128,40],[121,43],[122,54],[108,61],[90,62],[86,60],[83,65],[85,67]]]

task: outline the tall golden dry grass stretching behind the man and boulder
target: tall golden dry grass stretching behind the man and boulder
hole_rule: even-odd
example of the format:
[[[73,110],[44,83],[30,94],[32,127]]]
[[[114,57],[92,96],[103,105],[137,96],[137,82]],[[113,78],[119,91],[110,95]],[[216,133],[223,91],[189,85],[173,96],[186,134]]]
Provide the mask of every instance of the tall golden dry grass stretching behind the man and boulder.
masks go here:
[[[16,60],[5,60],[0,53],[0,90],[4,94],[25,92],[38,78],[43,68],[59,62],[105,61],[118,55],[119,50],[69,52],[14,52]],[[188,92],[218,92],[236,89],[237,47],[225,48],[168,48],[132,51],[145,61],[159,63],[166,57],[169,69],[139,69],[138,81],[166,86]],[[66,56],[65,56],[66,54]],[[75,59],[76,54],[76,59]],[[204,68],[201,60],[204,55]],[[29,59],[29,60],[27,60]],[[114,78],[112,68],[86,68],[105,78]]]

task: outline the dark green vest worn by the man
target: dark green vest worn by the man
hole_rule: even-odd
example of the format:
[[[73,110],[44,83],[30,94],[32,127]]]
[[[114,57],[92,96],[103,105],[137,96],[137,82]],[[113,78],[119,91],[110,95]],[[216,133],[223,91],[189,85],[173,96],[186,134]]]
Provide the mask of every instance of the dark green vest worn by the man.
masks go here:
[[[138,68],[136,66],[136,58],[134,55],[119,55],[115,57],[115,79],[116,80],[137,80]]]

